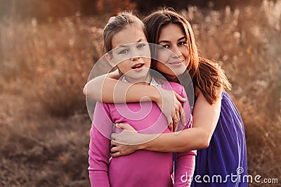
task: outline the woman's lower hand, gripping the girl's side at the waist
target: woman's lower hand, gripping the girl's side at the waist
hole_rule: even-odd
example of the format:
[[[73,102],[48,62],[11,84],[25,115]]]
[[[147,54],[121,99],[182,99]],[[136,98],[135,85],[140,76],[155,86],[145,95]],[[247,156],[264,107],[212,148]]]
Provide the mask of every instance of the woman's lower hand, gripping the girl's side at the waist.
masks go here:
[[[120,129],[124,129],[119,134],[112,133],[111,138],[111,153],[112,157],[119,157],[123,155],[129,155],[136,150],[138,150],[138,146],[140,143],[138,136],[138,132],[131,127],[130,124],[116,124],[116,127]],[[126,145],[125,145],[126,144]]]

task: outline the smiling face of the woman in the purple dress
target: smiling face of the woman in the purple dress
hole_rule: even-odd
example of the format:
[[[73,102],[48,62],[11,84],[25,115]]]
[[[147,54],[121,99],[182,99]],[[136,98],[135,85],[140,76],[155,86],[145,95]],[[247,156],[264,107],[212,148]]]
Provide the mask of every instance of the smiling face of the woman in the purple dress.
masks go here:
[[[190,62],[190,51],[188,38],[181,27],[177,24],[162,27],[157,44],[162,46],[157,53],[157,70],[171,79],[183,74]]]

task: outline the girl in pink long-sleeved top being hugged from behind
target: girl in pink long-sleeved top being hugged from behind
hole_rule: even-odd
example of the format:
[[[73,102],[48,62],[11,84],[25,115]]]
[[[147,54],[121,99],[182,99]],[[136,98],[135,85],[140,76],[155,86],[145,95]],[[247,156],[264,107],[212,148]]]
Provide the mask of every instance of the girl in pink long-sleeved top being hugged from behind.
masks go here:
[[[180,84],[162,82],[150,75],[150,48],[143,22],[131,13],[121,13],[111,18],[103,30],[105,58],[117,65],[121,81],[140,85],[162,86],[186,97]],[[112,50],[114,49],[114,50]],[[185,120],[190,126],[190,106],[183,105]],[[124,157],[110,160],[110,134],[118,132],[115,124],[128,123],[142,134],[171,132],[166,117],[155,103],[96,103],[90,131],[89,177],[91,186],[173,186],[173,153],[138,150]],[[118,127],[118,125],[116,125]],[[178,153],[179,173],[192,176],[195,151]],[[175,176],[175,186],[190,186],[190,177]],[[187,179],[188,178],[188,179]]]

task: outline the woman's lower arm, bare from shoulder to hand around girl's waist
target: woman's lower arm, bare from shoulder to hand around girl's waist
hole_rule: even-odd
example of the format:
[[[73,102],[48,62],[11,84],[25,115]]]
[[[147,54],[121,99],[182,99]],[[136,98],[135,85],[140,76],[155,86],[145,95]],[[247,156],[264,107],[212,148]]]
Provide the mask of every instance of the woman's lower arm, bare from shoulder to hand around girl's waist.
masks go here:
[[[221,96],[222,88],[217,90],[218,96]],[[120,134],[112,134],[112,145],[116,147],[112,148],[112,156],[118,157],[120,155],[127,155],[133,153],[135,150],[145,149],[160,152],[185,152],[189,150],[197,150],[202,148],[207,148],[211,140],[211,136],[214,133],[216,124],[218,122],[218,117],[221,111],[221,98],[213,105],[210,105],[206,98],[204,98],[201,91],[197,93],[197,101],[195,103],[195,108],[193,110],[193,127],[190,129],[184,129],[180,134],[176,133],[166,133],[160,134],[157,138],[146,143],[141,143],[137,145],[126,146],[117,142],[128,143],[131,138],[144,139],[145,137],[151,138],[150,134],[134,134],[134,137],[126,138],[122,137]],[[127,124],[124,125],[126,129]],[[122,127],[122,125],[120,125]],[[155,136],[155,135],[154,135]],[[121,152],[121,153],[120,153]]]

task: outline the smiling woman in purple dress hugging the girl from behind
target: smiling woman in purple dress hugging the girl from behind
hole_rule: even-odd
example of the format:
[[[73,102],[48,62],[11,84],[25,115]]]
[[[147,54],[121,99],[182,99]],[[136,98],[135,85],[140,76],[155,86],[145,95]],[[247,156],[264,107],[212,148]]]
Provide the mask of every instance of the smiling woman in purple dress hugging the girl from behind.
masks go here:
[[[136,139],[147,135],[137,134],[136,131],[112,134],[112,138],[115,138],[115,141],[112,141],[112,145],[115,146],[112,148],[112,156],[118,157],[140,149],[161,152],[183,152],[197,149],[192,186],[247,186],[247,181],[244,181],[243,177],[247,175],[244,127],[233,101],[228,93],[223,91],[224,88],[230,88],[226,76],[216,63],[198,58],[192,28],[180,13],[170,9],[155,11],[144,19],[144,23],[148,29],[148,41],[174,52],[190,74],[196,98],[192,112],[193,127],[183,130],[181,134],[161,134],[152,141],[129,146],[117,142],[131,143],[132,136]],[[162,63],[156,63],[155,68],[170,81],[178,82],[181,77],[185,76],[183,74],[176,77]],[[113,102],[112,93],[117,84],[115,79],[118,77],[110,76],[114,79],[107,77],[103,86],[100,86],[100,88],[106,89],[106,92],[97,92],[96,89],[96,92],[93,93],[94,91],[91,90],[91,84],[98,86],[96,83],[105,78],[105,76],[98,77],[85,86],[86,96],[98,100],[100,98],[97,96],[103,96],[103,102]],[[122,84],[122,86],[124,89],[131,85]],[[131,86],[127,91],[126,101],[140,101],[143,96],[150,97],[156,103],[161,101],[155,88],[136,85]],[[175,111],[181,110],[175,108]],[[178,118],[178,113],[174,112],[174,121],[177,122]],[[129,124],[119,124],[119,127],[131,129]]]

